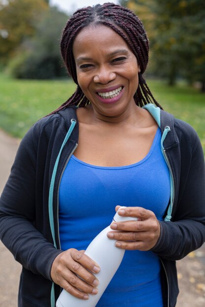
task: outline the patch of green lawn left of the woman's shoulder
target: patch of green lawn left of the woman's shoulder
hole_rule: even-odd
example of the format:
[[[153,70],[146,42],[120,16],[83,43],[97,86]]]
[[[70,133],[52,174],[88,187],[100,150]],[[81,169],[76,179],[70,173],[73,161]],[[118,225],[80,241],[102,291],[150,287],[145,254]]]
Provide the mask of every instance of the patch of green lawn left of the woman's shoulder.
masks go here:
[[[15,80],[0,75],[0,128],[22,138],[39,118],[57,109],[76,89],[70,80]]]

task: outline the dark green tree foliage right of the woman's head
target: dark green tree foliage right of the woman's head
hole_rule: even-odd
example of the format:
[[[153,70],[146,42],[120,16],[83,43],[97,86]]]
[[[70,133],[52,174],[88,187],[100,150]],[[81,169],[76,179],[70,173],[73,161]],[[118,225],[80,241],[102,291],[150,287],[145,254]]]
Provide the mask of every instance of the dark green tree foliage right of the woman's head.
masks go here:
[[[144,22],[150,39],[152,71],[205,87],[205,5],[203,0],[123,0]]]

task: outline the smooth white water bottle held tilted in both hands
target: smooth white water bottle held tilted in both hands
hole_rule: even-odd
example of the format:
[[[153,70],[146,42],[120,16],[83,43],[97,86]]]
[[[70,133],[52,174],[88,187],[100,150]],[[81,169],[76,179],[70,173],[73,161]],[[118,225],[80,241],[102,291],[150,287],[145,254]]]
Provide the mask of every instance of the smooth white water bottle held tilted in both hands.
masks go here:
[[[116,213],[113,218],[113,221],[115,222],[133,220],[136,221],[137,218],[123,217],[118,215],[118,213]],[[94,260],[100,267],[100,272],[93,274],[99,281],[97,287],[98,293],[95,295],[89,295],[88,300],[83,300],[76,298],[63,289],[57,300],[56,307],[95,307],[97,305],[97,302],[115,275],[125,253],[125,250],[119,249],[115,246],[116,240],[111,240],[107,237],[107,233],[110,230],[112,230],[110,226],[102,230],[92,240],[85,252],[85,254]]]

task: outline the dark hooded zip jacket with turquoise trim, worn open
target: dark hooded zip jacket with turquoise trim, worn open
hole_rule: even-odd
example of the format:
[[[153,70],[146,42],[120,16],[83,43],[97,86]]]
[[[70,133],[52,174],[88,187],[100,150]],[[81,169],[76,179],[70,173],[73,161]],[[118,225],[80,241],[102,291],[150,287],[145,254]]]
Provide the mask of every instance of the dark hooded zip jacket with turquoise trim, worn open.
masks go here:
[[[204,154],[191,126],[153,104],[145,108],[161,128],[162,151],[170,169],[170,205],[152,251],[161,259],[164,307],[174,307],[178,295],[175,260],[205,242]],[[77,146],[78,127],[74,106],[33,125],[21,141],[0,198],[0,239],[23,266],[19,307],[54,307],[60,293],[50,274],[55,257],[62,252],[59,182]]]

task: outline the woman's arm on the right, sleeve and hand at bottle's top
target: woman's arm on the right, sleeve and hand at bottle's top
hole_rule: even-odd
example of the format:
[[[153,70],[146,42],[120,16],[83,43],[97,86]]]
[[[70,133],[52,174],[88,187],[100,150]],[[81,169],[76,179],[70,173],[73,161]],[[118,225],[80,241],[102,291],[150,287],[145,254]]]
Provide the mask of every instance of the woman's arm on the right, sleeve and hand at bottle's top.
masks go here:
[[[123,208],[123,214],[118,211],[120,215],[135,216],[139,220],[111,224],[111,228],[119,232],[109,232],[108,237],[118,240],[119,248],[151,250],[162,258],[177,260],[205,242],[205,163],[198,136],[191,160],[184,163],[184,168],[188,174],[186,182],[181,176],[173,221],[157,221],[153,212],[140,207]]]

